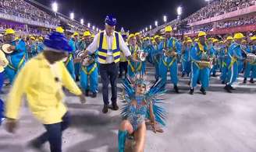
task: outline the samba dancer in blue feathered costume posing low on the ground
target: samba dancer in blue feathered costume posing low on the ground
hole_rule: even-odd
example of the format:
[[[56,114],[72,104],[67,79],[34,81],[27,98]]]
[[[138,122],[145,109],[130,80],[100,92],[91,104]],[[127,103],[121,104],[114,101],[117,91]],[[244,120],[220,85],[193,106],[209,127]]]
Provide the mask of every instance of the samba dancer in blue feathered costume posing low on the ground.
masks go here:
[[[145,81],[142,74],[136,74],[135,79],[126,78],[123,81],[123,102],[125,105],[121,115],[124,120],[120,125],[119,152],[125,150],[126,137],[129,133],[134,135],[134,151],[144,151],[146,120],[151,120],[151,125],[156,133],[162,132],[157,126],[165,126],[166,112],[161,106],[162,99],[158,96],[165,93],[164,84],[161,80],[155,84]]]

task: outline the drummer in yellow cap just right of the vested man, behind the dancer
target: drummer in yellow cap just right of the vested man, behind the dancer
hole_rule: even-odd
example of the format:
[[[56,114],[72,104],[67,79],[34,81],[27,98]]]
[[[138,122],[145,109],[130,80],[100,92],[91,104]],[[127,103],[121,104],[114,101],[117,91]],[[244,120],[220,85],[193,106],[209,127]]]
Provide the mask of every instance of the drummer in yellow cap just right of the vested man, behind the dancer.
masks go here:
[[[133,60],[128,60],[128,75],[134,77],[136,73],[141,72],[145,73],[146,65],[144,61],[137,60],[137,51],[142,51],[141,48],[137,45],[137,39],[135,35],[130,34],[128,37],[129,50],[133,56]],[[143,50],[144,51],[144,50]]]

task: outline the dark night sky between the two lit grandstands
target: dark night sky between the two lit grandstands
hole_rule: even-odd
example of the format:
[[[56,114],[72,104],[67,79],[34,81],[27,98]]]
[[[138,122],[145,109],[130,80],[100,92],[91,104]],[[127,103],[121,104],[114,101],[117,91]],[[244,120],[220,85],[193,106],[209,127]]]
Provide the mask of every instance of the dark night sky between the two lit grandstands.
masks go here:
[[[54,0],[37,0],[51,7]],[[206,5],[204,0],[56,0],[59,11],[69,16],[75,13],[75,19],[84,19],[85,24],[91,22],[92,26],[104,28],[104,19],[107,14],[116,16],[119,30],[120,27],[137,32],[151,25],[154,27],[155,20],[161,25],[162,16],[168,16],[168,21],[176,19],[176,8],[183,7],[182,18],[189,16]]]

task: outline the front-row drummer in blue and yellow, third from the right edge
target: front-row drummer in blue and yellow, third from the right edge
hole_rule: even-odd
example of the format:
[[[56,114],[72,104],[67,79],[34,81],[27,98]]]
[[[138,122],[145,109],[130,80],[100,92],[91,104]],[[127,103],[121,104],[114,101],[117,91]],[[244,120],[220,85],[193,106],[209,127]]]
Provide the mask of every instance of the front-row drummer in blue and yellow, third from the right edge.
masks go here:
[[[206,43],[206,33],[198,33],[198,42],[194,43],[191,50],[191,80],[190,80],[190,95],[194,94],[194,88],[197,86],[197,81],[201,81],[201,89],[203,95],[206,95],[206,89],[209,85],[210,65],[202,66],[201,61],[209,61],[211,57],[210,48]],[[210,63],[210,62],[208,62]]]

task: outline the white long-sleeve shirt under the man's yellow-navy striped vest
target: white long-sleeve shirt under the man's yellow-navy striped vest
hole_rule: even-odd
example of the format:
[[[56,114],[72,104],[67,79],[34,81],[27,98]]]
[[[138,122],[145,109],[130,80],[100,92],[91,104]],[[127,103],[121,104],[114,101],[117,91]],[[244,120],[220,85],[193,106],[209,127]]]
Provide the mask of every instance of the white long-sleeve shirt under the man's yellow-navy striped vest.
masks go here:
[[[93,42],[87,47],[87,50],[89,51],[89,54],[94,54],[96,50],[98,50],[98,41],[99,41],[99,36],[100,33],[96,34],[94,37]],[[111,64],[114,62],[114,57],[112,54],[112,40],[113,40],[113,35],[112,36],[107,36],[107,33],[104,31],[104,36],[107,37],[107,42],[108,42],[108,52],[107,52],[107,58],[106,58],[106,64]],[[123,52],[123,54],[126,57],[129,57],[130,50],[126,46],[126,43],[123,40],[122,36],[119,36],[119,45],[120,45],[120,50]]]

